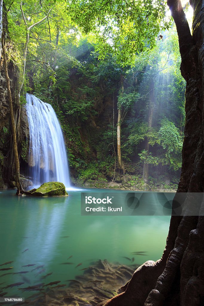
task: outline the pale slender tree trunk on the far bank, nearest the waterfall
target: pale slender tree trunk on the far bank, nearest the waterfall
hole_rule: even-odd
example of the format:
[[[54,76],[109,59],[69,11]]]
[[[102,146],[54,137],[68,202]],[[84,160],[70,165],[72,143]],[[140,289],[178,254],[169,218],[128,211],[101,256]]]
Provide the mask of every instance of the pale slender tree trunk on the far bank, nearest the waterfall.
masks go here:
[[[122,96],[124,92],[123,75],[121,73],[121,88],[119,95]],[[117,163],[119,171],[122,170],[124,174],[124,163],[121,157],[121,120],[122,120],[122,105],[118,103],[118,117],[117,117]]]

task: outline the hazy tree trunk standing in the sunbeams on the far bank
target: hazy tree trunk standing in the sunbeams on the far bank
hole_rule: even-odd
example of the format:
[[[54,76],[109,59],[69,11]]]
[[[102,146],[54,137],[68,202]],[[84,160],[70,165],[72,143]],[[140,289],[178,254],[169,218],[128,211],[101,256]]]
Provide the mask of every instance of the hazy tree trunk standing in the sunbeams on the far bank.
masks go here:
[[[149,100],[149,113],[148,113],[148,131],[152,128],[152,119],[154,112],[154,80],[150,82],[150,100]],[[149,155],[150,143],[148,137],[145,138],[145,151]],[[143,164],[143,181],[147,184],[149,181],[149,164],[144,162]]]

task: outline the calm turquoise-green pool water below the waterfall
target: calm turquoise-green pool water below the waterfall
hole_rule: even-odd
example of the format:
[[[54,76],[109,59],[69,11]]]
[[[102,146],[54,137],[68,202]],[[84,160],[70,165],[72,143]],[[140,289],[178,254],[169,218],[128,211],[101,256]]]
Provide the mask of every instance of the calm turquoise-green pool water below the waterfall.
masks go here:
[[[13,261],[0,266],[13,267],[0,271],[0,283],[4,282],[0,287],[16,282],[25,282],[23,287],[34,285],[48,273],[52,274],[43,282],[63,283],[83,274],[81,269],[98,259],[128,265],[131,261],[123,256],[134,257],[134,263],[140,265],[161,257],[170,216],[81,216],[81,192],[72,190],[69,194],[32,198],[17,197],[15,190],[0,192],[0,264]],[[146,256],[131,254],[141,251],[147,252]],[[62,264],[67,262],[72,264]],[[28,264],[35,266],[22,267]],[[33,270],[39,266],[43,267]],[[28,272],[2,276],[21,271]],[[4,291],[8,292],[6,296],[19,296],[18,287]]]

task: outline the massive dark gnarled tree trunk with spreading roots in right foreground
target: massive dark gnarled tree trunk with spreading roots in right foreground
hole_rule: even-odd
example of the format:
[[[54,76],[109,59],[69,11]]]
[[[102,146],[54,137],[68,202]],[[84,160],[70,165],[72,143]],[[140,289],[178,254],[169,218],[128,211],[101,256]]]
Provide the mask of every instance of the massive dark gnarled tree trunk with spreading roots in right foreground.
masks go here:
[[[176,23],[181,73],[186,85],[186,123],[178,192],[188,192],[184,217],[172,217],[164,254],[139,267],[120,295],[106,306],[203,306],[204,216],[191,216],[192,193],[204,189],[204,0],[194,8],[191,36],[180,0],[168,0]],[[197,205],[204,215],[201,193]]]

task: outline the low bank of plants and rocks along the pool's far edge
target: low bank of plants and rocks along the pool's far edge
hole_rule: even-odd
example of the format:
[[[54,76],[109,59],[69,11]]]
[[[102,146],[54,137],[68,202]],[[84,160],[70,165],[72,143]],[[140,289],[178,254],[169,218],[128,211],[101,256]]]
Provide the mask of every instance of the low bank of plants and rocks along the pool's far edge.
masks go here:
[[[79,173],[71,171],[72,183],[77,187],[109,188],[131,191],[171,191],[176,192],[179,174],[175,172],[159,171],[150,168],[148,183],[143,181],[140,165],[126,164],[125,174],[120,174],[113,167],[96,169],[93,164]]]

